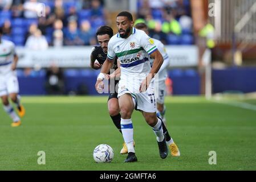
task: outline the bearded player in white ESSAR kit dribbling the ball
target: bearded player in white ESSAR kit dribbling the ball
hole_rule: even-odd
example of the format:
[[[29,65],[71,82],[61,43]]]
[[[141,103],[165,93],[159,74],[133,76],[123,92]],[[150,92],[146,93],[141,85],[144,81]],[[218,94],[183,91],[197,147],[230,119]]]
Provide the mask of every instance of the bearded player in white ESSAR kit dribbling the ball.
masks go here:
[[[119,81],[119,107],[121,111],[121,131],[128,148],[124,162],[136,162],[133,147],[132,112],[141,111],[145,121],[156,134],[159,153],[162,159],[168,155],[161,119],[156,116],[156,101],[152,78],[159,71],[163,58],[153,40],[144,31],[133,28],[131,13],[122,11],[117,15],[116,24],[119,33],[112,36],[108,43],[107,60],[97,77],[96,90],[101,93],[103,79],[113,64],[115,56],[120,59],[121,77]],[[151,68],[150,56],[154,62]],[[174,143],[174,142],[173,142]],[[177,152],[179,152],[177,150]]]

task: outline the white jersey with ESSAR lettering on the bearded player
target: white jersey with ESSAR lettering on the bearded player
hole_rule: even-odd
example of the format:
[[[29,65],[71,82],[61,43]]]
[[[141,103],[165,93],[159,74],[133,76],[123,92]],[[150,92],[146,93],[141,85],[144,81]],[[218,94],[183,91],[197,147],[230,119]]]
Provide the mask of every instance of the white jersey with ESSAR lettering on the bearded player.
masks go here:
[[[108,59],[119,57],[121,77],[119,88],[124,86],[131,93],[139,93],[141,82],[151,71],[150,56],[157,47],[144,31],[132,28],[132,34],[124,39],[119,33],[108,43]]]

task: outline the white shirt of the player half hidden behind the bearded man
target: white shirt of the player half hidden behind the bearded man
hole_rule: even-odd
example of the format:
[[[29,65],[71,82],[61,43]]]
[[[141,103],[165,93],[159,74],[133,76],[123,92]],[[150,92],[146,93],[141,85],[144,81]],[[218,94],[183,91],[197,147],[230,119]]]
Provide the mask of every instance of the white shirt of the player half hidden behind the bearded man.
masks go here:
[[[153,38],[152,38],[153,39]],[[159,69],[158,72],[158,80],[159,81],[165,81],[167,78],[167,67],[169,66],[169,56],[166,52],[166,49],[164,47],[164,44],[161,43],[160,40],[153,39],[157,49],[161,53],[162,57],[164,58],[164,63],[161,65],[161,68]],[[154,59],[151,59],[151,66],[153,65]]]

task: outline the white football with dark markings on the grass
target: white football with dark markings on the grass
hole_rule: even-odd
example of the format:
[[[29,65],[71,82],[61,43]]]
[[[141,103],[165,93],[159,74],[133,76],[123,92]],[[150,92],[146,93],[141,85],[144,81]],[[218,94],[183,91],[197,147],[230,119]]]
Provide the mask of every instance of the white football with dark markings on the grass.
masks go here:
[[[94,160],[96,163],[110,163],[114,158],[113,149],[107,144],[99,144],[94,149]]]

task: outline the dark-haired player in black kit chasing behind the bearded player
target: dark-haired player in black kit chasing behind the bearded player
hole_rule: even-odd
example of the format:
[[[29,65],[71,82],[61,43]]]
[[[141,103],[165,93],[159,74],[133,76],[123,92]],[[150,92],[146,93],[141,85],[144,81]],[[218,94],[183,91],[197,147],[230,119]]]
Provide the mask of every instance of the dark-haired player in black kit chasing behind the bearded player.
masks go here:
[[[91,68],[93,69],[100,69],[101,65],[103,65],[104,61],[107,59],[107,52],[108,52],[108,41],[113,36],[113,30],[111,27],[108,26],[101,26],[96,32],[97,41],[99,42],[100,46],[95,46],[92,48],[91,53]],[[96,61],[97,60],[97,61]],[[112,65],[111,69],[117,69],[117,57],[115,58],[115,62]],[[110,71],[108,73],[110,75]],[[117,88],[116,85],[118,84],[118,80],[115,80],[115,88],[112,88],[113,85],[110,85],[110,93],[108,97],[108,113],[115,124],[116,128],[121,133],[121,115],[119,109],[119,103],[117,98]],[[134,143],[133,143],[134,145]],[[120,154],[127,154],[128,149],[125,143],[123,144],[123,148],[120,151]]]

